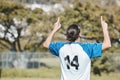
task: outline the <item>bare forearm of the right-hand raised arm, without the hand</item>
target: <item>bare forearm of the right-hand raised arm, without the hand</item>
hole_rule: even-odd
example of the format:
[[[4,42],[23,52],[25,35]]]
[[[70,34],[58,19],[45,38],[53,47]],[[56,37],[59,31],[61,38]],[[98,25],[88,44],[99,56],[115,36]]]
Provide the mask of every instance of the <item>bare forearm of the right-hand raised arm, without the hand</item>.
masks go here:
[[[104,36],[104,40],[103,40],[102,50],[105,50],[111,47],[111,41],[107,29],[103,29],[103,36]]]

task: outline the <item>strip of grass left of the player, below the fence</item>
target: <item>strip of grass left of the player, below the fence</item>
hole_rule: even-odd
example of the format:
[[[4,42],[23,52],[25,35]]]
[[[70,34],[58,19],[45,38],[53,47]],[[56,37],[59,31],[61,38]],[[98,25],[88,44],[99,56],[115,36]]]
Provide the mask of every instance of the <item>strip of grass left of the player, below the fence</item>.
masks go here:
[[[54,74],[55,73],[55,74]],[[39,78],[56,78],[60,76],[60,68],[45,68],[39,69],[3,69],[1,73],[2,78],[15,77],[39,77]]]

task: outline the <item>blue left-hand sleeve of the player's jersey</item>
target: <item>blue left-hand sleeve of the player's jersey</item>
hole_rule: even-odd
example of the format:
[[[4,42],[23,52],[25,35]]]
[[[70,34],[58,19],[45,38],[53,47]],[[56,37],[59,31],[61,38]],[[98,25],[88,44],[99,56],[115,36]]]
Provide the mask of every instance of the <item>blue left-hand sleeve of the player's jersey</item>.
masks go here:
[[[49,45],[49,50],[50,52],[55,55],[55,56],[59,56],[59,50],[60,48],[64,45],[63,42],[53,42],[50,43]]]

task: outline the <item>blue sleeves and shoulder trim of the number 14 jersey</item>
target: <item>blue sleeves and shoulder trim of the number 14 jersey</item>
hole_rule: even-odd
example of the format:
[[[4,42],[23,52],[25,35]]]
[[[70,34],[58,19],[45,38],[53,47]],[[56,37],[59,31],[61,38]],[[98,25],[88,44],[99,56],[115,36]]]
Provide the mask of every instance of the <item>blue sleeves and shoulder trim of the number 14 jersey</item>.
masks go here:
[[[53,55],[59,56],[59,50],[64,44],[79,44],[83,50],[87,53],[89,58],[95,58],[102,56],[102,44],[101,43],[80,43],[80,42],[53,42],[49,45],[49,50]]]

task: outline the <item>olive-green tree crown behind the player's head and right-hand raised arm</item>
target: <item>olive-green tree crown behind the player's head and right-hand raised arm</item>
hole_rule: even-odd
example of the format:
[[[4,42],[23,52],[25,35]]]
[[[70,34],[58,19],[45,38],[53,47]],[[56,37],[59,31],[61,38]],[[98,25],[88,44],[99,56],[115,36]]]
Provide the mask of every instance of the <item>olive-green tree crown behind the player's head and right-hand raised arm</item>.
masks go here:
[[[116,8],[115,11],[112,11],[113,9],[111,10],[111,8],[113,8],[113,6],[110,8],[103,8],[100,5],[92,4],[91,2],[86,2],[84,4],[77,2],[74,4],[74,8],[66,10],[61,17],[65,26],[77,23],[80,26],[83,35],[92,40],[97,39],[101,42],[103,34],[100,24],[100,16],[103,16],[108,22],[112,42],[119,42],[119,8]]]

